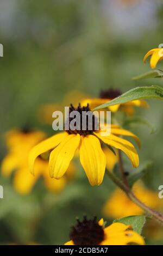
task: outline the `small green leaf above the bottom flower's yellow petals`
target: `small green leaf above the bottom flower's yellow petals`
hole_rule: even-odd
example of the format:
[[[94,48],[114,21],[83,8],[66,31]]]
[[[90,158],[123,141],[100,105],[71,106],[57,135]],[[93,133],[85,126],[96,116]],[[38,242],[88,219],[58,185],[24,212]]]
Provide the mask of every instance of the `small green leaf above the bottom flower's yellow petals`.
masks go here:
[[[114,220],[113,223],[120,222],[126,225],[131,225],[131,227],[134,229],[135,232],[141,235],[142,228],[146,223],[146,217],[145,216],[129,216],[124,218],[119,218],[117,220]]]

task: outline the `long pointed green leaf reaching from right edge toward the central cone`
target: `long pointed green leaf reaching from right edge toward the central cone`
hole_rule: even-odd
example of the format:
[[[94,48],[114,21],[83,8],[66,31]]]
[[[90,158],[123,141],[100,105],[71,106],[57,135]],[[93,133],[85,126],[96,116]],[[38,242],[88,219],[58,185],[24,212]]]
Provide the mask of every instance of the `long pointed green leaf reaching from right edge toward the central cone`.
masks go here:
[[[136,87],[134,89],[129,90],[126,93],[123,93],[121,96],[116,97],[114,100],[108,101],[100,106],[97,106],[96,108],[94,108],[94,110],[140,99],[163,100],[163,88],[160,86]]]

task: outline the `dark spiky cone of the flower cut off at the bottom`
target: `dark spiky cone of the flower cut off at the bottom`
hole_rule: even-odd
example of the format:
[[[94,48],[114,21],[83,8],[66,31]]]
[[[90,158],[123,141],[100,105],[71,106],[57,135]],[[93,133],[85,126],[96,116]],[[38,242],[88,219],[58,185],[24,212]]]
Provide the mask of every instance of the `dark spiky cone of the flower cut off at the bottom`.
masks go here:
[[[98,224],[97,218],[87,220],[86,217],[72,227],[70,239],[74,245],[99,245],[104,240],[104,229]]]

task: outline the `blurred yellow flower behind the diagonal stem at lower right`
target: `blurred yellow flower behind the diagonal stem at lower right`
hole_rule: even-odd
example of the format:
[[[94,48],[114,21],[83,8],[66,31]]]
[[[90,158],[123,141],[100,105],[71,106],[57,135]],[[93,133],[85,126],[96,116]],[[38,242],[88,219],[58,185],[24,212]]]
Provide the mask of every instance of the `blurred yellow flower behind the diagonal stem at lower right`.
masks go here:
[[[133,191],[135,196],[147,206],[153,209],[160,207],[161,200],[158,197],[158,193],[145,188],[140,183],[136,183],[133,186]],[[105,203],[103,213],[109,218],[122,218],[131,215],[142,215],[143,210],[134,204],[120,188],[117,188]]]

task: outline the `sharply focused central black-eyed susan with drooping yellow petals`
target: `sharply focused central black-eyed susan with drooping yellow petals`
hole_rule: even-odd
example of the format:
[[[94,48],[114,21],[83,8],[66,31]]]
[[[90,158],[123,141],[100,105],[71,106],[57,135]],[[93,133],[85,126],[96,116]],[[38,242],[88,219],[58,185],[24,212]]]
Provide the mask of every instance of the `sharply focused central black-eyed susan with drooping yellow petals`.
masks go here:
[[[72,111],[78,111],[82,120],[82,112],[90,111],[89,105],[86,107],[74,108],[70,107]],[[95,115],[92,114],[94,123],[91,130],[89,130],[88,120],[86,123],[86,130],[82,130],[82,121],[80,122],[79,130],[67,130],[46,139],[45,141],[36,145],[29,154],[29,168],[30,172],[34,174],[34,163],[42,153],[52,150],[49,157],[49,174],[52,178],[60,179],[66,172],[74,154],[79,150],[80,163],[82,164],[87,178],[91,185],[100,185],[103,181],[106,156],[101,148],[101,144],[109,145],[116,149],[122,150],[129,157],[133,167],[139,166],[139,156],[133,144],[120,136],[130,136],[140,144],[139,138],[133,133],[123,130],[116,125],[111,125],[111,134],[109,136],[102,136],[100,130],[95,130]],[[70,124],[70,119],[66,121]]]

